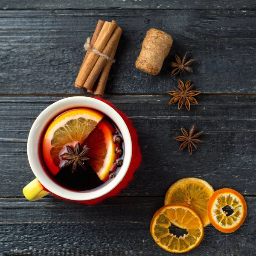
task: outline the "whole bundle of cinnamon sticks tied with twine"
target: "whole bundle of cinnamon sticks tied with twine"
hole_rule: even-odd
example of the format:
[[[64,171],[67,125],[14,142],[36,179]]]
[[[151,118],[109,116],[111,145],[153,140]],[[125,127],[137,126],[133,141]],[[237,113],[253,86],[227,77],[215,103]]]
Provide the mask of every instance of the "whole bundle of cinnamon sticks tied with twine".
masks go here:
[[[99,20],[90,42],[90,48],[76,78],[75,86],[103,96],[108,75],[116,54],[122,29],[116,22]]]

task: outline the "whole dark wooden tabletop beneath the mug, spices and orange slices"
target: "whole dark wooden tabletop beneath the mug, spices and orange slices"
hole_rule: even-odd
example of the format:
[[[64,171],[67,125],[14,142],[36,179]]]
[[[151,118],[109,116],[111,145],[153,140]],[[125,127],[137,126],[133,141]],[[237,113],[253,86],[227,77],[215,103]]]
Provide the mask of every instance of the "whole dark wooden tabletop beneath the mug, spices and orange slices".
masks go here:
[[[255,1],[1,0],[0,9],[1,256],[167,256],[149,225],[169,186],[183,177],[236,189],[248,207],[239,230],[225,234],[210,225],[188,255],[256,254]],[[116,20],[123,29],[104,99],[133,121],[143,163],[119,196],[93,207],[52,196],[26,201],[22,188],[34,178],[29,129],[58,99],[90,96],[74,81],[98,19]],[[157,76],[135,68],[151,28],[174,39]],[[197,61],[183,81],[203,92],[189,112],[169,106],[166,94],[178,79],[167,64],[186,51]],[[205,133],[191,157],[177,151],[173,137],[193,124]]]

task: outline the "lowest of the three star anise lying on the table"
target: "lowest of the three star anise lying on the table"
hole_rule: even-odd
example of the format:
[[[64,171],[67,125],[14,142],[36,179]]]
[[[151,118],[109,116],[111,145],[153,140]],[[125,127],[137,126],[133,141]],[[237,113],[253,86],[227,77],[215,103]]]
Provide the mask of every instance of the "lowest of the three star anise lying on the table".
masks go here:
[[[183,150],[188,146],[189,154],[192,155],[192,145],[195,148],[198,148],[195,143],[202,143],[203,140],[198,140],[198,137],[203,134],[204,131],[198,132],[197,134],[193,135],[195,132],[195,125],[192,126],[192,128],[189,131],[189,134],[186,132],[184,128],[181,128],[181,131],[183,133],[183,136],[175,137],[175,140],[183,141],[183,143],[180,145],[179,150]]]

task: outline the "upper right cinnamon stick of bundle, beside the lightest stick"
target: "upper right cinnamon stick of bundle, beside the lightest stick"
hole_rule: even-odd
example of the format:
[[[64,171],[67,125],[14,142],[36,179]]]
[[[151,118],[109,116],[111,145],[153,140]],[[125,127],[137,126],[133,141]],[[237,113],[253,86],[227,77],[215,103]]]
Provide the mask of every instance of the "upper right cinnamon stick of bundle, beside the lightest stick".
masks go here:
[[[122,29],[119,26],[117,26],[113,31],[113,34],[111,35],[111,38],[109,39],[106,47],[104,48],[102,52],[103,54],[111,58],[114,57],[121,34],[122,34]],[[113,55],[113,57],[111,55]],[[96,64],[93,67],[93,70],[91,71],[90,75],[88,76],[88,78],[84,83],[84,87],[87,88],[87,90],[92,90],[93,84],[95,84],[106,62],[107,62],[106,58],[102,56],[99,57],[99,59],[97,60]]]

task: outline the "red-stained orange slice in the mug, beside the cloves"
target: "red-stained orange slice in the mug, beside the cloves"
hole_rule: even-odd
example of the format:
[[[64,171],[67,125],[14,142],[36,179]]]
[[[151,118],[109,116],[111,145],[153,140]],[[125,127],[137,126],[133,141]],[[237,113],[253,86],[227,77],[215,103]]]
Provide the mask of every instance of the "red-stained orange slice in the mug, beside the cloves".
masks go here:
[[[113,163],[119,157],[115,152],[114,132],[113,126],[102,119],[84,142],[90,148],[87,156],[91,159],[87,162],[103,181],[108,180]]]

